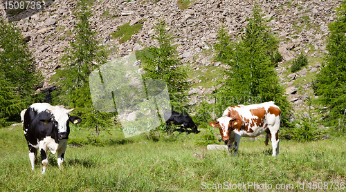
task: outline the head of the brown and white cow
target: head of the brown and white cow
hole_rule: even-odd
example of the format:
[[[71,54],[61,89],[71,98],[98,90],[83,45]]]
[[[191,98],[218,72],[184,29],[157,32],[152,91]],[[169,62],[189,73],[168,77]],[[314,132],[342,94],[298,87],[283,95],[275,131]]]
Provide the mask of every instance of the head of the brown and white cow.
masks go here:
[[[240,131],[242,128],[242,119],[224,116],[217,119],[217,122],[210,122],[209,124],[212,127],[218,127],[222,141],[228,142],[230,140],[230,133],[235,129]]]

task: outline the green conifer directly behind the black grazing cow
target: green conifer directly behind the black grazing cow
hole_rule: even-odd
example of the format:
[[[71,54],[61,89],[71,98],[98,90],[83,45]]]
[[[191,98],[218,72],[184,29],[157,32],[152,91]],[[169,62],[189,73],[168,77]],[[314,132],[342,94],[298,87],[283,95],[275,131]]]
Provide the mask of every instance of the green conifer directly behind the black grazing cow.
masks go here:
[[[176,46],[172,46],[173,37],[166,28],[167,24],[162,19],[154,24],[157,35],[153,39],[158,40],[158,47],[148,48],[149,54],[144,57],[144,70],[147,73],[143,78],[165,81],[173,110],[185,111],[183,96],[189,87],[186,81],[188,75],[184,68],[179,66],[181,61],[178,59]]]

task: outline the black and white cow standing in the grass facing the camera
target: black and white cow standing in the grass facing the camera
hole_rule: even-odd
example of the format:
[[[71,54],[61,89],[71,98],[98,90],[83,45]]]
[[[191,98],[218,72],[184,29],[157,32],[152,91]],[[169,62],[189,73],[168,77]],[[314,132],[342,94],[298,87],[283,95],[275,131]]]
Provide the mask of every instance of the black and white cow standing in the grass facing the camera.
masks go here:
[[[41,154],[42,174],[48,164],[47,149],[57,153],[57,164],[61,169],[64,153],[69,138],[69,122],[79,124],[80,117],[69,115],[73,109],[64,106],[51,106],[51,104],[32,104],[24,114],[23,131],[28,142],[31,169],[35,170],[37,149]]]

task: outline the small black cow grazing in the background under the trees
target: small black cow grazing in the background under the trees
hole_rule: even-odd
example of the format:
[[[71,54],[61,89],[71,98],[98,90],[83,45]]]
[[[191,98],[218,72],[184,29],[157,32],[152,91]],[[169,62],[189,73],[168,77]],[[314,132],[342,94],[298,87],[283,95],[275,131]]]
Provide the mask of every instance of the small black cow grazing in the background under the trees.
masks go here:
[[[184,126],[186,135],[188,135],[188,128],[191,128],[193,133],[199,133],[199,131],[197,130],[197,125],[194,124],[192,118],[188,114],[167,111],[164,114],[164,117],[167,126],[170,126],[171,122],[176,125],[181,125],[180,129]],[[168,128],[167,135],[169,135]]]

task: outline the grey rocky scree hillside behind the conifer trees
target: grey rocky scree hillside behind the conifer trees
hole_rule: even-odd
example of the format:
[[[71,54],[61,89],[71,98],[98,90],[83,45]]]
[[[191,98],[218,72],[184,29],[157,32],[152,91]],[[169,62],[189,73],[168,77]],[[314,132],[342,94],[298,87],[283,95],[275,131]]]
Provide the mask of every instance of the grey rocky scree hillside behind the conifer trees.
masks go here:
[[[46,10],[16,21],[28,46],[36,58],[37,68],[43,71],[46,80],[43,88],[51,86],[48,79],[59,68],[59,60],[64,48],[74,36],[75,17],[73,10],[75,0],[46,1],[53,3]],[[325,40],[328,35],[327,24],[336,17],[336,8],[341,1],[298,1],[277,0],[259,1],[264,17],[272,27],[273,33],[280,39],[280,53],[284,61],[277,67],[278,75],[290,95],[296,109],[304,109],[304,99],[309,97],[310,82],[313,74],[318,73],[322,55],[325,52]],[[155,46],[152,39],[153,23],[159,17],[165,19],[170,32],[176,37],[179,57],[184,65],[193,71],[189,73],[194,82],[190,94],[196,102],[206,93],[211,93],[217,84],[210,77],[224,69],[224,65],[212,61],[217,37],[217,29],[224,23],[232,37],[242,34],[251,15],[255,1],[210,0],[191,1],[188,6],[181,7],[181,1],[143,1],[143,0],[98,0],[91,8],[93,30],[98,38],[112,52],[109,60],[128,55],[148,46]],[[3,5],[0,15],[5,15]],[[130,41],[120,44],[118,39],[110,38],[118,26],[130,23],[130,26],[143,22],[143,28],[131,37]],[[290,74],[290,60],[298,53],[308,55],[309,66],[298,73]],[[303,104],[303,105],[302,105]],[[300,107],[299,107],[300,106]]]

